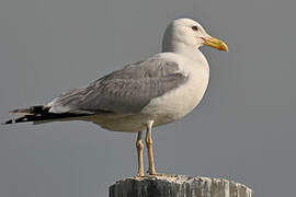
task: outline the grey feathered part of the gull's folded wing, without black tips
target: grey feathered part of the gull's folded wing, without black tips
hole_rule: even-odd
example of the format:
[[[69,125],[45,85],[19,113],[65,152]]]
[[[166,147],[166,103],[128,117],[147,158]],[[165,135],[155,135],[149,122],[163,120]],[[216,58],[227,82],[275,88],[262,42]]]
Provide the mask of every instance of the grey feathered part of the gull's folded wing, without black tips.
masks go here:
[[[149,59],[128,65],[87,88],[66,92],[50,103],[49,112],[138,113],[150,100],[180,86],[186,79],[177,62]]]

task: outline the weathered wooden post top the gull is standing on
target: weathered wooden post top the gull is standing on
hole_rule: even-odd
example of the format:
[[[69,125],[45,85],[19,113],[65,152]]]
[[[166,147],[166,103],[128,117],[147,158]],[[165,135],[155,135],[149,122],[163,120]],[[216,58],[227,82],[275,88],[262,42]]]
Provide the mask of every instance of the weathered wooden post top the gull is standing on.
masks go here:
[[[252,197],[246,185],[201,176],[144,176],[117,181],[110,197]]]

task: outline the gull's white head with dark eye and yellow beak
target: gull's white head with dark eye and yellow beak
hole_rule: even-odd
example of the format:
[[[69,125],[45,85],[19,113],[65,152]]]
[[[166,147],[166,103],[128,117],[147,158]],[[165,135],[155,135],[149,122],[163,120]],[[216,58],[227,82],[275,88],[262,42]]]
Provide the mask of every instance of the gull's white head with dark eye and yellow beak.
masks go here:
[[[171,22],[164,32],[162,51],[192,54],[203,45],[218,50],[228,50],[227,45],[223,40],[208,35],[196,21],[178,19]]]

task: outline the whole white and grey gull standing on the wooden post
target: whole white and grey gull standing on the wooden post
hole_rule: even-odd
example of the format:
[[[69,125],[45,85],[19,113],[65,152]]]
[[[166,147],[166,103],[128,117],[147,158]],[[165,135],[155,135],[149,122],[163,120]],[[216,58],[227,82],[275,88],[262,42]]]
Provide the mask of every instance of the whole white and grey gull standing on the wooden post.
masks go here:
[[[227,45],[192,19],[178,19],[166,28],[162,53],[125,66],[87,86],[62,93],[45,105],[18,108],[21,117],[4,124],[84,120],[112,131],[137,132],[137,176],[144,176],[143,130],[149,175],[155,167],[151,131],[175,121],[201,102],[208,84],[209,67],[198,49],[207,45],[227,51]]]

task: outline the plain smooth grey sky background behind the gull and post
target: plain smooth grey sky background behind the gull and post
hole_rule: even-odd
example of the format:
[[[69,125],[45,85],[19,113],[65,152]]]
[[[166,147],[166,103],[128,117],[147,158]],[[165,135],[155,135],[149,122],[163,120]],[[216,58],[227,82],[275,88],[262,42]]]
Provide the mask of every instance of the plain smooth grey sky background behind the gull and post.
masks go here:
[[[0,119],[159,53],[167,24],[189,16],[229,53],[202,49],[209,88],[193,113],[155,129],[157,170],[230,177],[255,197],[294,196],[295,8],[295,0],[1,0]],[[0,130],[1,197],[103,197],[136,174],[136,134],[82,121]]]

